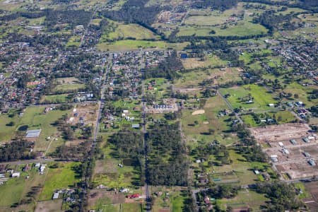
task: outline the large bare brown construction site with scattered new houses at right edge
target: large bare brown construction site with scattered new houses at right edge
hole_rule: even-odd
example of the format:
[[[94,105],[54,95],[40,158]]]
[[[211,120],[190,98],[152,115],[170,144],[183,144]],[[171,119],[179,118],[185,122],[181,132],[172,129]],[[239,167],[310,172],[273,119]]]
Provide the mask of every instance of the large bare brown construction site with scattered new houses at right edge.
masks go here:
[[[250,129],[273,168],[285,179],[318,176],[317,134],[307,124],[290,123]]]

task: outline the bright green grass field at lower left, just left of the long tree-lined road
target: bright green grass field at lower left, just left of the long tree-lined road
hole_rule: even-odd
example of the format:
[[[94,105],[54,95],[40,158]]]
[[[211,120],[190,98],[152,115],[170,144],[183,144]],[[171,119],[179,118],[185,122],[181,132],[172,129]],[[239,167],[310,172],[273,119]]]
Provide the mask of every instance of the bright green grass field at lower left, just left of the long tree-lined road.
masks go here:
[[[80,180],[79,173],[76,170],[81,170],[80,163],[59,163],[59,167],[47,167],[47,177],[45,185],[40,194],[40,200],[49,200],[52,198],[53,192],[57,189],[67,189]]]

